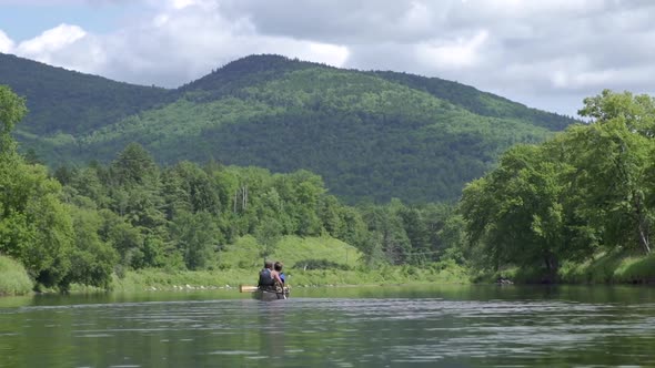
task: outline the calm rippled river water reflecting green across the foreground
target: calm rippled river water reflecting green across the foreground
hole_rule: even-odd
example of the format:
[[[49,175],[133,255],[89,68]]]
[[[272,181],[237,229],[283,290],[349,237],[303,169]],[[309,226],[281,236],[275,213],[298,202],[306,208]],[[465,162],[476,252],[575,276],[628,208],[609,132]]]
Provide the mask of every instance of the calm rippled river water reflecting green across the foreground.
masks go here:
[[[0,298],[0,367],[655,366],[649,287]]]

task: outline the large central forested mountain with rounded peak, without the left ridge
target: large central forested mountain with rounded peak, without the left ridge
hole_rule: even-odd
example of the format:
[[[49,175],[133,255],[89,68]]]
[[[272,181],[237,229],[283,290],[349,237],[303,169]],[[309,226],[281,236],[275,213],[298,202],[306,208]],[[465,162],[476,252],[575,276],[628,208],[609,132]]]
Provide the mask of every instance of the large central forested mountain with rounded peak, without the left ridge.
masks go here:
[[[201,81],[210,90],[190,90],[175,103],[82,137],[80,156],[111,160],[137,140],[167,163],[211,157],[274,172],[306,168],[351,203],[417,203],[457,197],[505,149],[550,134],[375,74],[269,58],[236,61],[225,67],[231,73]]]

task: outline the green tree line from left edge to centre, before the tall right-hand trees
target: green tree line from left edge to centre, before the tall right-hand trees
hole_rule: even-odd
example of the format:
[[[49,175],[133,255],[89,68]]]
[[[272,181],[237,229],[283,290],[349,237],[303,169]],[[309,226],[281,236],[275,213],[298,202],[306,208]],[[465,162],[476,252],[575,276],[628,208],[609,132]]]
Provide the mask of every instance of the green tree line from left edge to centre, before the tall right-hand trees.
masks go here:
[[[224,246],[244,235],[262,257],[280,236],[328,235],[360,248],[369,265],[435,260],[452,236],[435,233],[452,206],[349,206],[308,171],[162,166],[135,143],[108,164],[49,173],[11,136],[24,100],[0,86],[0,254],[20,260],[39,287],[109,288],[112,274],[148,267],[215,269]]]

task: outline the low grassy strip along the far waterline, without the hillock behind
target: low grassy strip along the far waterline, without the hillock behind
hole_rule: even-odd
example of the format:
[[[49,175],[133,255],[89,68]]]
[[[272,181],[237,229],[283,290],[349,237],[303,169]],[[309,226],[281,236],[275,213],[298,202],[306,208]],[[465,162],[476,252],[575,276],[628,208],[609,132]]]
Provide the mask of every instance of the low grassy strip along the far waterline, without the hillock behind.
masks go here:
[[[144,290],[189,290],[238,288],[255,285],[258,268],[224,268],[216,270],[167,270],[160,268],[125,272],[112,276],[112,290],[132,293]],[[422,267],[390,266],[376,268],[335,267],[324,269],[286,269],[292,287],[361,286],[386,284],[470,284],[494,283],[497,279],[515,284],[541,284],[538,272],[517,268],[495,274],[477,275],[454,263],[433,263]],[[655,255],[603,254],[582,264],[564,264],[557,274],[558,284],[655,284]],[[33,282],[24,267],[11,258],[0,256],[0,295],[33,293]],[[94,287],[72,285],[72,293],[99,292]],[[51,290],[56,292],[56,290]]]

